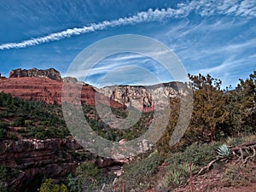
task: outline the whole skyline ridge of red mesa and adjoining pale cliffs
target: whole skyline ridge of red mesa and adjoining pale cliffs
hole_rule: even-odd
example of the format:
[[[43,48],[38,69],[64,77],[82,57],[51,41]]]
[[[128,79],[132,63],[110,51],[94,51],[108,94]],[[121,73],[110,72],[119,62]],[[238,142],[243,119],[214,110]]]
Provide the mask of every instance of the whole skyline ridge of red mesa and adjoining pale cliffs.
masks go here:
[[[63,84],[67,87],[62,90]],[[24,100],[61,104],[67,101],[75,104],[81,102],[95,106],[96,92],[98,100],[109,104],[112,108],[137,108],[148,112],[157,108],[166,108],[163,98],[170,98],[184,94],[182,82],[169,82],[149,86],[115,85],[96,88],[90,84],[79,82],[73,77],[61,78],[54,68],[40,70],[15,69],[9,73],[9,79],[0,78],[0,92],[10,93],[12,96]],[[80,95],[79,95],[80,93]]]

